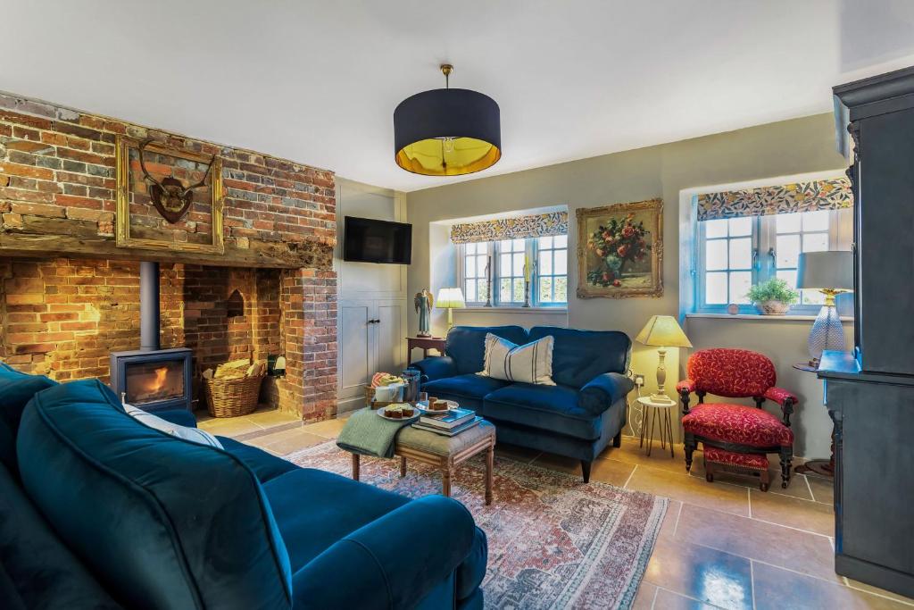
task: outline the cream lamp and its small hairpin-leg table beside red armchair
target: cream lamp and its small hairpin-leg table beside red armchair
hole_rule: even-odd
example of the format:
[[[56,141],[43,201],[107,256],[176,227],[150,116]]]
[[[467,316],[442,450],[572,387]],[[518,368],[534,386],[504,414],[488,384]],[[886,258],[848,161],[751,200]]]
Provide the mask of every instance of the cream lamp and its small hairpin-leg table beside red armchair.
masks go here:
[[[647,412],[641,426],[641,446],[644,446],[645,428],[650,428],[647,440],[647,455],[651,455],[654,446],[654,431],[660,423],[660,447],[670,444],[670,457],[673,453],[673,409],[677,402],[666,395],[666,349],[691,348],[692,343],[685,337],[685,332],[674,316],[651,316],[635,341],[657,349],[657,391],[650,396],[639,396],[638,402]]]

